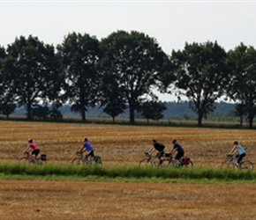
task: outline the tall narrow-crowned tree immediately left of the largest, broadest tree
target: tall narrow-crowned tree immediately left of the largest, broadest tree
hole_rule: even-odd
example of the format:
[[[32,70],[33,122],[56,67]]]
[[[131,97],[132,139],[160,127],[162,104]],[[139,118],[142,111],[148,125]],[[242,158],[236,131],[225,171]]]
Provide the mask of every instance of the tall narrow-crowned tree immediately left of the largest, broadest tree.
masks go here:
[[[65,76],[64,97],[72,104],[72,111],[86,121],[87,106],[94,106],[98,99],[100,78],[95,66],[99,41],[87,33],[69,33],[57,50]]]

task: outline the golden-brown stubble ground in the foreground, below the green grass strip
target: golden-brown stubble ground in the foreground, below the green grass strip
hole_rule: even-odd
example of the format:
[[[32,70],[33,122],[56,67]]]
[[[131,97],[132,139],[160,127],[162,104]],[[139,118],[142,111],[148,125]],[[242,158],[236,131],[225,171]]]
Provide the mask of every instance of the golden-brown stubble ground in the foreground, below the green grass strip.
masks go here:
[[[1,219],[255,219],[255,184],[0,180]]]

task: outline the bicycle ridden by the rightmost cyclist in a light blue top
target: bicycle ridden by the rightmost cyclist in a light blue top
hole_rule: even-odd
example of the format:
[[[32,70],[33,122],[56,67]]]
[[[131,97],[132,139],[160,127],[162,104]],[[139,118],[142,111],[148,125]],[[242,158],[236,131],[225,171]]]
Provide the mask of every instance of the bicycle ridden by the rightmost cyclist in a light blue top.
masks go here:
[[[237,166],[237,161],[233,155],[227,155],[228,160],[222,162],[222,169],[235,169],[237,167],[239,170],[253,170],[253,163],[250,160],[241,160],[240,165]]]

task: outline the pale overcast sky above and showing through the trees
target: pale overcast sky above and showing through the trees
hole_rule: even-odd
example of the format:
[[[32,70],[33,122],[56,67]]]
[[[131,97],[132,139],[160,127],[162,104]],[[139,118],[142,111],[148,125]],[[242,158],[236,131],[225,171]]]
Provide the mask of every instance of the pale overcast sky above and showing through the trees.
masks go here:
[[[217,41],[226,51],[241,42],[256,48],[255,1],[2,1],[0,46],[32,35],[61,44],[68,33],[98,40],[123,30],[154,38],[162,50],[183,49],[185,42]],[[170,101],[173,95],[160,95]]]

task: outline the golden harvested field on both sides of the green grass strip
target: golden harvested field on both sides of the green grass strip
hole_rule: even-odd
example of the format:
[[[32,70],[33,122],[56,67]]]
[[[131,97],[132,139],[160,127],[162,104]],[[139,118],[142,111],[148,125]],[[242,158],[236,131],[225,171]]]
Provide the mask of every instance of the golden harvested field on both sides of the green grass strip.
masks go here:
[[[194,167],[221,165],[234,140],[255,162],[255,130],[0,121],[0,158],[17,161],[33,138],[49,163],[93,144],[103,165],[138,165],[152,139],[184,146]],[[0,180],[0,219],[256,219],[253,183]]]

